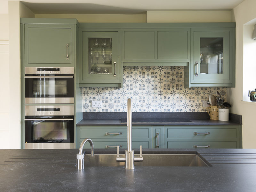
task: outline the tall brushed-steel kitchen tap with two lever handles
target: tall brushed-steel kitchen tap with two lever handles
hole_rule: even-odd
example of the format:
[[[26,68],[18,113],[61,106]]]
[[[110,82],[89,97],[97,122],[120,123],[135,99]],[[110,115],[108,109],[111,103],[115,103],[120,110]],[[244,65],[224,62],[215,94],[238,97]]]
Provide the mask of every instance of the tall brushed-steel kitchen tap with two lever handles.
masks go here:
[[[117,146],[116,161],[124,162],[125,169],[133,170],[134,161],[143,161],[142,157],[142,145],[140,146],[140,157],[134,157],[134,150],[132,150],[132,100],[127,100],[127,150],[125,150],[125,156],[119,156],[119,146]]]

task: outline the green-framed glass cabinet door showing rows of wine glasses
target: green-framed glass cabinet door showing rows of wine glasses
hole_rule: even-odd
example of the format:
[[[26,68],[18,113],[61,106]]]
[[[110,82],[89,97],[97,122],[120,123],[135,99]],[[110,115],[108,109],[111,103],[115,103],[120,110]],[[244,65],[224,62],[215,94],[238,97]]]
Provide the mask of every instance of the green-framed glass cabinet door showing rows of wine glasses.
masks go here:
[[[83,31],[83,80],[116,80],[118,34],[115,31]]]

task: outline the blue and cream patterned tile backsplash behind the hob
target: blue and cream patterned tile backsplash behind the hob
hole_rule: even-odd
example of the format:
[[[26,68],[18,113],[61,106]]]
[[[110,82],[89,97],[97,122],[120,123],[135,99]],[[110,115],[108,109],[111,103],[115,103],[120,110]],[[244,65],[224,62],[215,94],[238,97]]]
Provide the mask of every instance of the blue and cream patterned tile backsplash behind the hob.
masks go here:
[[[226,87],[184,88],[182,66],[124,66],[123,88],[83,87],[83,112],[126,112],[128,98],[132,112],[204,112],[203,100],[217,91],[227,100]]]

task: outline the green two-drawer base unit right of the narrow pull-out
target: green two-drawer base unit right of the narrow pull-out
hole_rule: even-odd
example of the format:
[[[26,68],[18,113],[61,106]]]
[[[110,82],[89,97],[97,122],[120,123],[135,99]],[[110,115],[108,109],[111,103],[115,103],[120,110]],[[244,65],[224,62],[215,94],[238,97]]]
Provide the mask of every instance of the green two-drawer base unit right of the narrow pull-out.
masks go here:
[[[164,126],[164,148],[242,148],[241,126]]]

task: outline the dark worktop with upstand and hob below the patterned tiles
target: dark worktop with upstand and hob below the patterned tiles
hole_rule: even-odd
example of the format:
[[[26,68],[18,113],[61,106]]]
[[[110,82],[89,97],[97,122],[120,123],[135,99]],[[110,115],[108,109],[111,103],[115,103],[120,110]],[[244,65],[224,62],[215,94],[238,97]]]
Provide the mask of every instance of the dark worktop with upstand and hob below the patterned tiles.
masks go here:
[[[126,116],[124,112],[83,113],[76,125],[126,125]],[[218,121],[210,120],[207,112],[133,112],[132,125],[242,125],[242,116],[230,113],[229,121]]]

